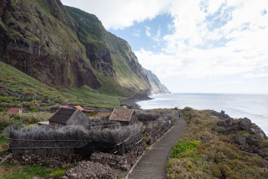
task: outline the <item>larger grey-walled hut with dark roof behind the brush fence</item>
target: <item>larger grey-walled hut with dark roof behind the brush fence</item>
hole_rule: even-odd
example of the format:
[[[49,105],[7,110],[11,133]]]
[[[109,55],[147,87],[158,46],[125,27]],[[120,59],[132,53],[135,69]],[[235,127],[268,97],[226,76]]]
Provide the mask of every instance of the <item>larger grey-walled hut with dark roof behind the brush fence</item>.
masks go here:
[[[91,124],[88,116],[80,109],[61,107],[49,118],[49,126],[52,128],[83,126],[85,129],[89,129]]]

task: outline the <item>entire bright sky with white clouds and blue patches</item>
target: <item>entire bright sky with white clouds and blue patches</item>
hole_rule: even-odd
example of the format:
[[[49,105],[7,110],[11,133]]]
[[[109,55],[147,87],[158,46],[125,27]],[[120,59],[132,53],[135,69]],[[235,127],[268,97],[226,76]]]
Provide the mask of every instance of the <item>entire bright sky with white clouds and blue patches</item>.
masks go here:
[[[268,93],[267,0],[61,1],[128,41],[173,93]]]

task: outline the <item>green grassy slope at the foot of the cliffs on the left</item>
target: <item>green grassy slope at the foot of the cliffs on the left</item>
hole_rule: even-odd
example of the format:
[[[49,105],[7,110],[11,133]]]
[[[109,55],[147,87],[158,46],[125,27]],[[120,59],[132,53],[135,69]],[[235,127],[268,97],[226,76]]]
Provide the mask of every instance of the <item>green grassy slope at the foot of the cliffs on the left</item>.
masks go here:
[[[8,88],[10,91],[7,97],[1,97],[0,99],[10,102],[19,100],[19,98],[22,99],[24,96],[27,97],[27,93],[31,92],[31,96],[36,99],[42,99],[45,95],[48,96],[51,101],[77,101],[78,104],[89,107],[112,109],[119,108],[120,103],[118,98],[124,98],[123,96],[119,96],[118,93],[116,95],[105,95],[101,90],[94,90],[88,86],[75,87],[68,90],[57,90],[46,84],[42,84],[36,79],[1,61],[0,87]],[[125,98],[129,97],[131,96]]]

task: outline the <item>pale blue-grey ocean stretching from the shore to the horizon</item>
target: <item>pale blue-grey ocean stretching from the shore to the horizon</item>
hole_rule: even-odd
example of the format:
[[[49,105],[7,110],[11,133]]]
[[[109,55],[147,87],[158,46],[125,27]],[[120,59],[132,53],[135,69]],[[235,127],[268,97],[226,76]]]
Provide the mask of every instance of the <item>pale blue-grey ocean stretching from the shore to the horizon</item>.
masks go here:
[[[223,110],[231,118],[249,118],[268,136],[268,94],[172,93],[149,97],[154,99],[137,102],[141,109],[191,107]]]

